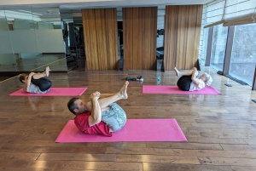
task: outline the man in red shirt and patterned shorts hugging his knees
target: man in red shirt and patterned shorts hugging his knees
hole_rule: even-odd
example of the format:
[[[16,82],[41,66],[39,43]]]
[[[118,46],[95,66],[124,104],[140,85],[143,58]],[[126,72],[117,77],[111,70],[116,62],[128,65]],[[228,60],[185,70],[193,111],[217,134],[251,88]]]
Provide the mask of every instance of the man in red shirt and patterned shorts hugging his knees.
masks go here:
[[[79,98],[68,101],[69,111],[76,116],[74,123],[85,134],[102,134],[112,136],[112,132],[123,128],[126,123],[125,111],[117,105],[117,100],[128,98],[126,93],[129,82],[116,94],[90,94],[89,102],[84,103]]]

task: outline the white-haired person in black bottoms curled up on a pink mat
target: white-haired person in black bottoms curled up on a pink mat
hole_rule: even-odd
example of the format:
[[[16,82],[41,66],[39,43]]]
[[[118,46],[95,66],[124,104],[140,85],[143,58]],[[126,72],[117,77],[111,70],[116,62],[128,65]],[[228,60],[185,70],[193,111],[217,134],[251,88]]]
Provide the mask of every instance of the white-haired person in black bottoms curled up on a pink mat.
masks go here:
[[[201,88],[205,88],[206,85],[211,85],[212,77],[203,73],[200,77],[198,76],[198,71],[194,67],[189,71],[178,71],[177,68],[174,68],[177,77],[180,77],[177,81],[177,87],[183,91],[196,91]]]

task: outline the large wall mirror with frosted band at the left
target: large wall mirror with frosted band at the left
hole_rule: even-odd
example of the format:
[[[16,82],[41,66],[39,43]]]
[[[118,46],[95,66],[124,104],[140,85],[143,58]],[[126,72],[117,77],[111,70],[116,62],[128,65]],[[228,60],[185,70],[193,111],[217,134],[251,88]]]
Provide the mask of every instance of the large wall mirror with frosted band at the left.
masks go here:
[[[58,8],[0,9],[0,71],[67,71]]]

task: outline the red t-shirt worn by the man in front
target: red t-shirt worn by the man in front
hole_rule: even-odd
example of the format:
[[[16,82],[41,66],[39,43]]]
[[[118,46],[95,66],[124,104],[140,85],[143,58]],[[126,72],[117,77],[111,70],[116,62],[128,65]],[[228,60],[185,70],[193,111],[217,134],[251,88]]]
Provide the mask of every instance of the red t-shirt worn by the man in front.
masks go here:
[[[79,116],[74,118],[74,123],[80,131],[84,132],[85,134],[102,134],[104,136],[112,136],[112,133],[109,132],[109,128],[106,123],[101,122],[90,127],[89,117],[90,111],[80,114]]]

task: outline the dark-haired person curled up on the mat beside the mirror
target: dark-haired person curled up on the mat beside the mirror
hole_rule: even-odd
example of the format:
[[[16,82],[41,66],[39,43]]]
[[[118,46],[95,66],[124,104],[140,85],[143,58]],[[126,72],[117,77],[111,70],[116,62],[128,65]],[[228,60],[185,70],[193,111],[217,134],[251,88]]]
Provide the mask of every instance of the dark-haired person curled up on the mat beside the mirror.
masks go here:
[[[35,73],[31,72],[30,74],[20,74],[19,80],[21,83],[24,83],[25,86],[23,90],[27,93],[34,94],[45,94],[49,91],[52,83],[49,79],[49,66],[45,68],[44,72]]]

